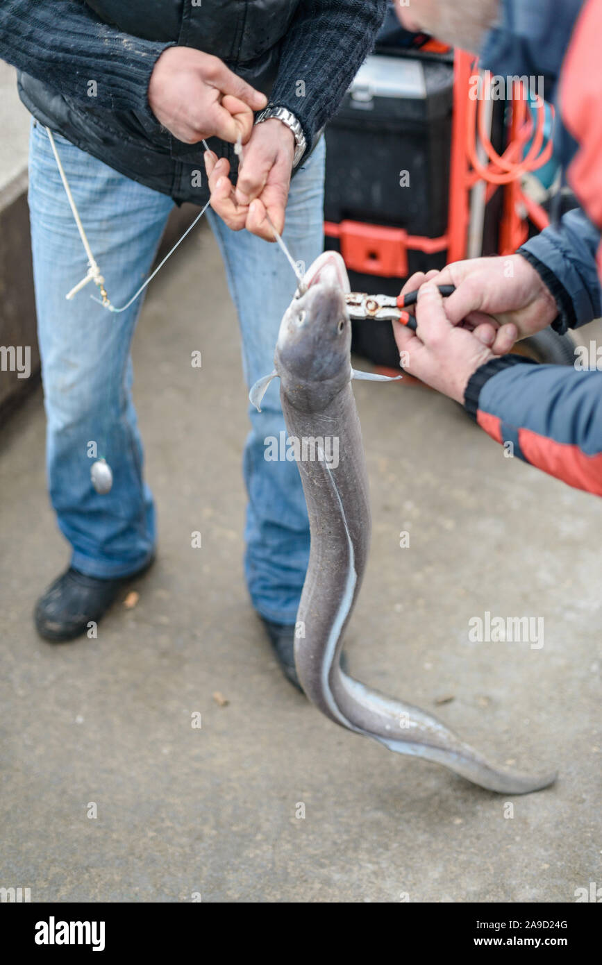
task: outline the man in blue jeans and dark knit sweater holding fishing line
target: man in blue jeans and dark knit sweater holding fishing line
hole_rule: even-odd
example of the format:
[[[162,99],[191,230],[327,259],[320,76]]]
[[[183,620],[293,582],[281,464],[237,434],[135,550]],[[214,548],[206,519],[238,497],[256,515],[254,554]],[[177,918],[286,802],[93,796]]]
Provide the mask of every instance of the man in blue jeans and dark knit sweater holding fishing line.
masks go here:
[[[46,125],[115,306],[149,272],[174,204],[203,205],[210,193],[207,216],[252,385],[271,368],[296,286],[283,253],[265,241],[274,240],[273,229],[284,231],[294,259],[306,264],[321,252],[321,129],[369,53],[385,7],[385,0],[0,5],[0,57],[19,69],[19,93],[34,118],[29,205],[47,475],[72,551],[68,569],[36,607],[46,640],[71,640],[97,623],[151,565],[156,541],[131,397],[130,343],[141,300],[119,315],[92,301],[89,288],[66,301],[86,256]],[[238,138],[244,152],[236,181]],[[263,458],[264,439],[285,428],[276,388],[261,414],[251,413],[251,425],[245,575],[294,682],[294,622],[310,532],[297,466]],[[90,442],[112,468],[105,495],[91,483]]]

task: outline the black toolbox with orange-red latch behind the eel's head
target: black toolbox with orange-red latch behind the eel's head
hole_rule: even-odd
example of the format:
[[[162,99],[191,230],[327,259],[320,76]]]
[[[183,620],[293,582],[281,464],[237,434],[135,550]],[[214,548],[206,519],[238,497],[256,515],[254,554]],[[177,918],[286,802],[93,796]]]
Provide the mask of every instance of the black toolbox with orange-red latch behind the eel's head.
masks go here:
[[[397,294],[446,264],[452,100],[452,51],[381,47],[328,124],[326,248],[341,251],[352,290]],[[397,364],[388,323],[354,322],[353,350]]]

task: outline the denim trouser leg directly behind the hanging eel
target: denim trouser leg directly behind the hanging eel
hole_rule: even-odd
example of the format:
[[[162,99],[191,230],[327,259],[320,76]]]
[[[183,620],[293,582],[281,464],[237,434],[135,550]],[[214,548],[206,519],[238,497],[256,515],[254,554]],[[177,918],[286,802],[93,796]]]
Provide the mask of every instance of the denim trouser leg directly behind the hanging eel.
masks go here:
[[[295,261],[309,266],[323,247],[324,140],[291,181],[284,237]],[[277,244],[248,232],[231,232],[210,212],[242,335],[249,386],[274,368],[281,319],[296,289]],[[245,576],[255,609],[268,620],[293,623],[310,554],[310,529],[295,462],[264,459],[264,439],[285,429],[280,381],[274,379],[261,412],[249,406],[251,432],[244,452],[249,497]]]

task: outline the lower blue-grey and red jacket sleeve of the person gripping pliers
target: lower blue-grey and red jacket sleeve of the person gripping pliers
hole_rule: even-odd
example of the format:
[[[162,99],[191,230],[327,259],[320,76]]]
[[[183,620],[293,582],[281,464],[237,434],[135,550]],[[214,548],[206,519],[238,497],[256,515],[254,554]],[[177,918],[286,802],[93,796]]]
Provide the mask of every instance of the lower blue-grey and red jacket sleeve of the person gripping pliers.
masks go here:
[[[472,375],[464,405],[513,455],[602,496],[602,372],[503,355]]]

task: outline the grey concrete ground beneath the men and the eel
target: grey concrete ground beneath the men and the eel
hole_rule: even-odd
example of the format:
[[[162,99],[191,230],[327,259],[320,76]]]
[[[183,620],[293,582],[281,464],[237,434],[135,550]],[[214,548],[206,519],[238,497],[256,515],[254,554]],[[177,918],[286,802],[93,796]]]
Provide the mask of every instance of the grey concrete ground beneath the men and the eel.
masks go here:
[[[424,387],[356,383],[374,534],[351,672],[501,761],[560,770],[496,796],[342,731],[276,666],[242,577],[246,390],[206,228],[152,283],[134,358],[159,555],[96,640],[53,647],[32,625],[68,560],[40,393],[0,435],[0,885],[33,901],[548,902],[599,883],[602,502],[505,458]],[[470,643],[485,611],[542,617],[544,646]]]

